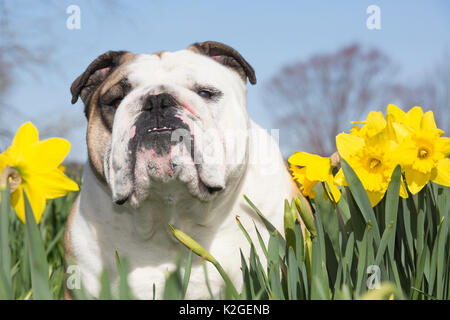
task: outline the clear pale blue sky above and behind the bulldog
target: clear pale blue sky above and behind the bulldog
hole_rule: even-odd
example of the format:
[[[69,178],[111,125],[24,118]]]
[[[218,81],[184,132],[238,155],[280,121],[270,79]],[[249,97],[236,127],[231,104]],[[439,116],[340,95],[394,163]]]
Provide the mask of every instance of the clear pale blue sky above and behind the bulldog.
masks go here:
[[[384,51],[405,77],[414,78],[450,49],[450,2],[444,0],[116,0],[112,10],[91,1],[8,3],[14,28],[26,30],[29,41],[49,45],[54,53],[48,68],[34,76],[18,74],[7,96],[18,113],[8,111],[3,122],[12,132],[27,120],[38,129],[54,122],[80,124],[60,133],[72,142],[69,159],[79,161],[86,159],[86,121],[81,102],[70,104],[69,87],[95,57],[111,49],[152,53],[205,40],[233,46],[256,70],[258,84],[249,87],[248,110],[266,128],[272,127],[271,115],[261,106],[261,90],[285,64],[359,42]],[[71,4],[81,9],[80,30],[66,28]],[[372,4],[381,9],[381,30],[366,28],[366,9]],[[40,16],[51,21],[36,26],[33,34],[35,17]]]

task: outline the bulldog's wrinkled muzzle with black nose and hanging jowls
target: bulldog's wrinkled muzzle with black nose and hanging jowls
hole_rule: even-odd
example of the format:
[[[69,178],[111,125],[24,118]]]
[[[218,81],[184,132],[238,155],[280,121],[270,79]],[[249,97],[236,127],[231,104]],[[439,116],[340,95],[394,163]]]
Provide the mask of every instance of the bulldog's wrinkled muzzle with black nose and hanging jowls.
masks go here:
[[[115,203],[137,207],[153,187],[172,181],[201,200],[225,188],[220,131],[183,105],[169,93],[132,92],[122,101],[104,157]]]

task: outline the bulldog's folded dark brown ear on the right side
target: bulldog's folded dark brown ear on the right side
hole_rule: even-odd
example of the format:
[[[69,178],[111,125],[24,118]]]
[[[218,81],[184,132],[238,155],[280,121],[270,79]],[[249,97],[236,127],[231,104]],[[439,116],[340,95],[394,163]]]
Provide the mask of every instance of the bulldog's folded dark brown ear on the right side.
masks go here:
[[[232,68],[245,82],[248,78],[251,84],[256,84],[255,70],[239,52],[230,46],[220,42],[205,41],[194,43],[188,49],[211,57],[217,62]]]

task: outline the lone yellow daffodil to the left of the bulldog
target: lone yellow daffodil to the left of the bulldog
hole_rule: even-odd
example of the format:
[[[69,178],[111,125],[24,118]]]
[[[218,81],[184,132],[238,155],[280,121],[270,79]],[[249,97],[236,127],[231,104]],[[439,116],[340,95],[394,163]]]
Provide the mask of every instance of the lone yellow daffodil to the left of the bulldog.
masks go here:
[[[12,167],[20,175],[20,184],[11,190],[11,204],[20,220],[25,222],[24,191],[39,223],[47,200],[78,190],[61,166],[69,150],[70,143],[65,139],[39,141],[37,129],[27,122],[19,128],[11,146],[0,154],[0,172]]]

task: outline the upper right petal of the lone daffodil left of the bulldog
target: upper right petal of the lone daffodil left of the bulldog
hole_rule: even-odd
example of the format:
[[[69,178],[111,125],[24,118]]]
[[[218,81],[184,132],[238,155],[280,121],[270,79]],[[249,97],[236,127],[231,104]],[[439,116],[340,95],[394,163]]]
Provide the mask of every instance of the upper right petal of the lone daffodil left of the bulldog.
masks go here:
[[[50,138],[35,144],[27,154],[27,160],[34,171],[46,172],[58,168],[69,151],[69,141]]]

